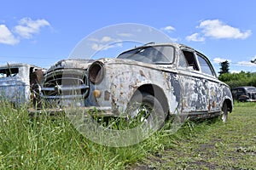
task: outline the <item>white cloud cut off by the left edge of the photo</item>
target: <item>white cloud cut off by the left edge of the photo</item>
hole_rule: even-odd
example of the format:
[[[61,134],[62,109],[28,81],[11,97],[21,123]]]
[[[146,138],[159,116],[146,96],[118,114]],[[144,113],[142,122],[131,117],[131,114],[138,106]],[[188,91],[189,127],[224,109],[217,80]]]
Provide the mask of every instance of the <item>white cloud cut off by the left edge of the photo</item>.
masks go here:
[[[7,26],[0,25],[0,43],[15,45],[18,42],[20,42],[20,40],[15,38]]]

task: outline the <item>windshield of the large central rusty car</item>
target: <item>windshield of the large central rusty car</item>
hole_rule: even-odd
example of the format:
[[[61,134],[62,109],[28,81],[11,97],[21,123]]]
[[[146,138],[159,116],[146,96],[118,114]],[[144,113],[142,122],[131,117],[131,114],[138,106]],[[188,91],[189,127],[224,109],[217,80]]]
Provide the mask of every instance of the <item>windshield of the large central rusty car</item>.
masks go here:
[[[144,46],[119,54],[118,59],[131,59],[150,64],[170,64],[174,56],[174,48],[166,46]]]

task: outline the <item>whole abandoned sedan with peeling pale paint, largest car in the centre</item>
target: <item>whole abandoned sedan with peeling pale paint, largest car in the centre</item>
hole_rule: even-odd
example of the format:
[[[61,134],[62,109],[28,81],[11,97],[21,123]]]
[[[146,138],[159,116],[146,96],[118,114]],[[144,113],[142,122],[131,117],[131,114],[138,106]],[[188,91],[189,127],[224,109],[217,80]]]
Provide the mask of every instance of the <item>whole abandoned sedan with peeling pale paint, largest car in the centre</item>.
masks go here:
[[[46,71],[40,97],[56,111],[73,105],[90,114],[144,119],[150,112],[225,122],[233,107],[230,88],[209,59],[175,42],[146,44],[117,58],[61,60]]]

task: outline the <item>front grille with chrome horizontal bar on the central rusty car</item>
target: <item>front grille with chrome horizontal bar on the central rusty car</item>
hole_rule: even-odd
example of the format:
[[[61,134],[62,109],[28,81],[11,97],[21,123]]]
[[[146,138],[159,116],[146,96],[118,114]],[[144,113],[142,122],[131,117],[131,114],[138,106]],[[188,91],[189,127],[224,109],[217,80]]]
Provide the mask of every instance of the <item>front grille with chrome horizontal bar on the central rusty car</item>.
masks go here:
[[[41,95],[46,99],[84,98],[89,91],[87,82],[84,70],[52,71],[46,76]]]

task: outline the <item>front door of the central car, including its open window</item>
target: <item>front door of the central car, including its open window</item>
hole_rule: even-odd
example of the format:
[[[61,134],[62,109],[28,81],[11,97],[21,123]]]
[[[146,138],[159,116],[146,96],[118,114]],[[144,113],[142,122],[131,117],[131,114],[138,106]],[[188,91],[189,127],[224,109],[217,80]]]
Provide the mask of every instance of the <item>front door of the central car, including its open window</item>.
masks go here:
[[[200,114],[208,110],[208,84],[201,75],[195,51],[181,48],[177,70],[182,87],[182,111]]]

